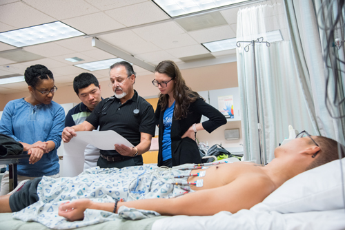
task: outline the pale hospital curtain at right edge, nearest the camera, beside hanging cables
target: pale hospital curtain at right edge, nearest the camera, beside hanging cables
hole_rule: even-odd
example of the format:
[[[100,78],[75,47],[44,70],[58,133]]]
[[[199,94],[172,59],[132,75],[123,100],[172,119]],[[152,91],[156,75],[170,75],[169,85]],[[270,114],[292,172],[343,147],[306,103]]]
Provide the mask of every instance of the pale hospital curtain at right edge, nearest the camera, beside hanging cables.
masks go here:
[[[338,69],[334,65],[337,65],[339,69],[344,69],[344,64],[339,62],[330,63],[327,58],[327,64],[333,65],[332,68],[327,68],[323,59],[327,45],[331,45],[326,43],[328,30],[324,30],[324,28],[325,25],[326,28],[330,25],[333,21],[332,18],[337,13],[337,1],[285,0],[284,7],[299,77],[298,82],[304,89],[304,101],[308,108],[308,114],[313,121],[315,131],[317,131],[314,134],[333,138],[344,145],[344,119],[332,118],[325,103],[326,77],[328,76],[331,79],[327,88],[327,94],[330,98],[328,108],[331,110],[332,116],[345,114],[344,103],[339,107],[332,106],[335,97],[344,98],[344,73],[339,72],[339,83],[337,85],[332,81],[333,71]],[[342,34],[342,40],[344,41],[344,28],[339,28],[339,34]],[[331,49],[336,50],[336,48]],[[344,44],[342,49],[335,52],[339,53],[340,58],[344,60]],[[338,87],[336,96],[334,96],[335,87]]]

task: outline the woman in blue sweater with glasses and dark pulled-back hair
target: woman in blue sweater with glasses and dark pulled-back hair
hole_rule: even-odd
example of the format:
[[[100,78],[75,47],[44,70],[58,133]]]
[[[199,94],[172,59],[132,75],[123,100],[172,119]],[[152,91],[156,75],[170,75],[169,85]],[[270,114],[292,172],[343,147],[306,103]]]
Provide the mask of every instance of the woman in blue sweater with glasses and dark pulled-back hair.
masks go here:
[[[25,159],[17,166],[18,182],[39,177],[59,177],[57,148],[61,143],[65,112],[52,101],[57,91],[52,72],[44,65],[25,71],[30,95],[7,103],[0,120],[0,133],[23,145]],[[1,180],[0,195],[8,194],[8,171]]]

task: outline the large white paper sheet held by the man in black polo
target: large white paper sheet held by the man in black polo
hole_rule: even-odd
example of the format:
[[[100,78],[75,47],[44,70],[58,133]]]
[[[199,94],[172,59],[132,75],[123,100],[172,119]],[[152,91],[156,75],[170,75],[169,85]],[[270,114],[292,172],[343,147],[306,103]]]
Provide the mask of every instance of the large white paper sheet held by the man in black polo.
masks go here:
[[[112,130],[76,133],[77,136],[73,137],[69,143],[63,144],[63,170],[60,171],[60,176],[81,174],[85,160],[84,151],[88,144],[103,150],[114,150],[115,144],[133,147],[126,138]]]

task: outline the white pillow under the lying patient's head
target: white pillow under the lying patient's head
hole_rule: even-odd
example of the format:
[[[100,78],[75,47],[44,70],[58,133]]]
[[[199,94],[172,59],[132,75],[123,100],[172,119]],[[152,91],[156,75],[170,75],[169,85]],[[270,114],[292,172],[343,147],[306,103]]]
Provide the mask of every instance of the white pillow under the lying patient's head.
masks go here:
[[[344,174],[345,158],[342,170]],[[286,181],[251,210],[297,213],[344,209],[342,172],[340,160],[305,171]]]

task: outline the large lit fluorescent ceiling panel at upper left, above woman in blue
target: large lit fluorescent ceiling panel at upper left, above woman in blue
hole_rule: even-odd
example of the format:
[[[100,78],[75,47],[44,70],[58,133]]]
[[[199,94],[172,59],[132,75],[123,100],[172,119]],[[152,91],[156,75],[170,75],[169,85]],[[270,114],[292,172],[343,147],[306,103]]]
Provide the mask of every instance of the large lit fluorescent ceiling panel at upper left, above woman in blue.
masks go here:
[[[19,30],[2,32],[0,33],[0,41],[9,45],[23,47],[81,35],[85,34],[79,30],[75,30],[75,28],[71,28],[61,21],[55,21]]]

